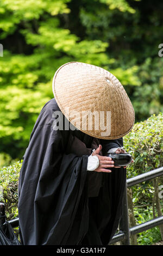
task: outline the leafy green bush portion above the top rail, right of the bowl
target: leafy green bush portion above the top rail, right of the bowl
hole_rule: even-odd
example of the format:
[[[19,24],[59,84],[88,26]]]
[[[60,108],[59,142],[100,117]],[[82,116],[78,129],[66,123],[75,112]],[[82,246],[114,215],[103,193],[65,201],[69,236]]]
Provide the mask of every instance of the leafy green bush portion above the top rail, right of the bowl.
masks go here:
[[[133,156],[127,176],[135,176],[163,165],[163,113],[136,123],[124,137],[124,148]]]

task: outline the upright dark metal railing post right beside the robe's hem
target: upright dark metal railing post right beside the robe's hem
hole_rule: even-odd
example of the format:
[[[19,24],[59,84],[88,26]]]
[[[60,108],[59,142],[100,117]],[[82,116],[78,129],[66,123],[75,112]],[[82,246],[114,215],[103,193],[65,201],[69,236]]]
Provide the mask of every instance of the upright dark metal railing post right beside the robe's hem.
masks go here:
[[[128,220],[127,184],[123,195],[123,215],[120,222],[120,230],[124,232],[123,245],[130,245],[130,229]]]

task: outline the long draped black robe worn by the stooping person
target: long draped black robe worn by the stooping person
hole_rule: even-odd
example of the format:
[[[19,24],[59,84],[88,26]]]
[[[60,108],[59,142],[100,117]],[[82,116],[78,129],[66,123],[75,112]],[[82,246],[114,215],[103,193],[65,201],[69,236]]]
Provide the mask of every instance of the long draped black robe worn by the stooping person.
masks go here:
[[[55,99],[43,106],[23,157],[18,216],[23,245],[107,245],[122,214],[126,169],[87,171],[88,154],[69,153],[70,135],[91,149],[93,137],[79,130],[54,130]],[[102,154],[123,140],[98,140]],[[88,172],[102,175],[98,196],[88,197]],[[98,177],[98,176],[97,176]],[[96,177],[95,177],[96,178]]]

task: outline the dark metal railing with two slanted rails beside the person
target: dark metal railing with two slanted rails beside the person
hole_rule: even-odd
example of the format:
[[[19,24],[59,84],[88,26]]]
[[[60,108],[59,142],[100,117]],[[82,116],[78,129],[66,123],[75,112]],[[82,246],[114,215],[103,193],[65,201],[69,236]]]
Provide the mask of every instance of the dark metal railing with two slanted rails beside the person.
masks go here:
[[[127,204],[127,188],[128,187],[132,187],[143,181],[151,180],[161,175],[163,175],[163,167],[155,170],[151,170],[150,172],[143,173],[133,178],[127,179],[126,189],[124,190],[124,196],[123,196],[123,214],[121,219],[120,231],[112,237],[109,244],[112,244],[118,241],[123,241],[124,245],[130,245],[131,235],[139,234],[142,231],[146,231],[153,227],[159,226],[160,224],[163,224],[163,216],[160,216],[160,217],[154,218],[151,221],[147,221],[142,224],[136,225],[135,227],[129,228],[128,204]],[[9,223],[13,228],[18,227],[18,218],[9,221]]]

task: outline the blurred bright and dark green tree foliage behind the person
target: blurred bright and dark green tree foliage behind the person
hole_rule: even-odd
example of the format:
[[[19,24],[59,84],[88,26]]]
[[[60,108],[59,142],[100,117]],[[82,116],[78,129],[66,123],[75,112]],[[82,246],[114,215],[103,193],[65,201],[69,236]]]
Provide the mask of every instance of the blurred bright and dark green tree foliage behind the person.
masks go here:
[[[162,7],[159,0],[1,0],[1,166],[21,159],[42,106],[53,97],[53,75],[66,62],[117,76],[136,121],[162,112]]]

